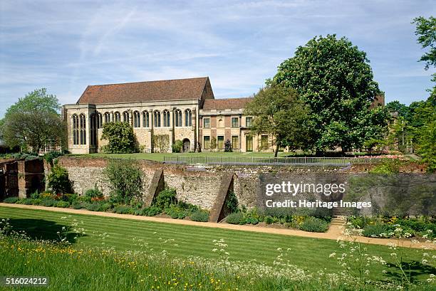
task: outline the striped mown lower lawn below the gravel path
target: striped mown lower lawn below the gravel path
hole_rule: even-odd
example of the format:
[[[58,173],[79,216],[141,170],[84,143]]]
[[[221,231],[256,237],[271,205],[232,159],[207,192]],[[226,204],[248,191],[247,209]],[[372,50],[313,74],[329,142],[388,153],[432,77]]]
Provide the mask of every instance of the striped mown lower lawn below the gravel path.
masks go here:
[[[56,239],[58,231],[68,226],[76,219],[85,235],[73,239],[73,245],[111,246],[115,250],[142,250],[138,240],[147,243],[147,248],[161,251],[167,250],[170,256],[187,258],[199,256],[202,258],[217,258],[212,252],[212,240],[223,238],[230,253],[230,260],[256,260],[259,263],[271,265],[279,255],[277,248],[289,248],[290,263],[306,270],[316,272],[326,268],[329,272],[341,270],[335,259],[329,258],[333,252],[338,253],[338,243],[335,240],[300,238],[280,236],[266,233],[231,231],[200,226],[182,226],[170,223],[155,223],[135,221],[130,219],[109,218],[74,214],[68,218],[65,213],[51,211],[16,209],[0,207],[0,219],[10,218],[10,223],[16,230],[24,230],[34,238]],[[103,235],[107,233],[107,235]],[[103,238],[105,237],[105,238]],[[134,239],[135,238],[135,239]],[[103,244],[104,243],[104,244]],[[390,250],[383,245],[366,245],[368,253],[389,260]],[[422,251],[405,249],[408,261],[420,261]],[[379,269],[378,269],[379,268]],[[382,267],[374,267],[374,273],[381,274]],[[417,277],[425,273],[424,269],[415,270]]]

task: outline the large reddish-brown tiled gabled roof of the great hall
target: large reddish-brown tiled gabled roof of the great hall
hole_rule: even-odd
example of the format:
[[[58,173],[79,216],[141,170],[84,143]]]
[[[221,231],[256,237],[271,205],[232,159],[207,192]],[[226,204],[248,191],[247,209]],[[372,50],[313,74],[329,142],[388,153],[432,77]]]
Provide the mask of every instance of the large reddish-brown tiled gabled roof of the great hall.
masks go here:
[[[200,100],[207,83],[209,83],[209,77],[89,85],[77,101],[77,104]]]

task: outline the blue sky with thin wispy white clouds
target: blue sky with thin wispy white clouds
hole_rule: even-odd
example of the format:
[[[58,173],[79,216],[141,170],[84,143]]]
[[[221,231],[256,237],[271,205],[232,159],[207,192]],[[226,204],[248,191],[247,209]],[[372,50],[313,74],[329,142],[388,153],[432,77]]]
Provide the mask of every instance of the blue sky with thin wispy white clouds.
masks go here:
[[[36,88],[62,104],[87,85],[209,76],[215,97],[252,95],[316,35],[348,37],[386,100],[425,100],[416,16],[434,1],[0,2],[0,117]]]

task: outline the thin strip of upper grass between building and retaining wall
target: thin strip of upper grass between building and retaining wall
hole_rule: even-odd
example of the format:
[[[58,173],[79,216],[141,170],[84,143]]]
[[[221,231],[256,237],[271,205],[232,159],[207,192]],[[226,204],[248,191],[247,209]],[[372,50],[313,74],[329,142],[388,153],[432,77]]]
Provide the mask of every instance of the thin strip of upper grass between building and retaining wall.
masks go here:
[[[279,152],[279,157],[286,157],[289,153]],[[273,152],[196,152],[196,153],[135,153],[135,154],[69,154],[69,157],[110,157],[116,159],[150,159],[152,161],[163,162],[164,156],[179,157],[274,157]]]

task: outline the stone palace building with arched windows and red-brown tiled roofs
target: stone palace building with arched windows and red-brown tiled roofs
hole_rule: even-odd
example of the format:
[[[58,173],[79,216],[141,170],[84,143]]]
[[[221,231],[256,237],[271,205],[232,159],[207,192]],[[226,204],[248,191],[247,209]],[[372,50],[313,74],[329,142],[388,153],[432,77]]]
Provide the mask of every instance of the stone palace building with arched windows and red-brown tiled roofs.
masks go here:
[[[90,85],[76,104],[64,105],[68,150],[100,152],[106,122],[129,122],[142,152],[172,152],[180,140],[183,152],[224,150],[272,151],[268,135],[252,136],[252,118],[244,116],[247,98],[215,99],[208,77],[138,83]]]

